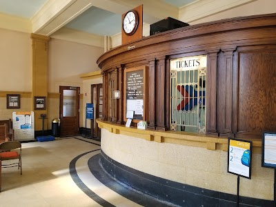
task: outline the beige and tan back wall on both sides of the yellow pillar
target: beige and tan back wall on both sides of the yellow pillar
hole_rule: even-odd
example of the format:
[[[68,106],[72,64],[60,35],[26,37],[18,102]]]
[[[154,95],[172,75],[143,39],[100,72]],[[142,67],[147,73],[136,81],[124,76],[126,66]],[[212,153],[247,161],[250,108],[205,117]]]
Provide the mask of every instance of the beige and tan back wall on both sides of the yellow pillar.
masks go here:
[[[0,119],[11,119],[13,111],[32,110],[32,43],[30,34],[26,32],[0,28],[0,37]],[[48,129],[52,128],[52,119],[59,117],[59,86],[79,86],[82,93],[83,79],[79,78],[79,75],[99,70],[96,61],[102,53],[103,48],[59,39],[50,40]],[[89,85],[89,81],[86,82]],[[101,83],[101,81],[96,82]],[[88,85],[86,88],[89,88]],[[6,108],[7,93],[21,95],[21,108]],[[85,126],[85,117],[83,118],[82,115],[85,108],[83,110],[82,98],[83,96],[80,98],[80,127]]]

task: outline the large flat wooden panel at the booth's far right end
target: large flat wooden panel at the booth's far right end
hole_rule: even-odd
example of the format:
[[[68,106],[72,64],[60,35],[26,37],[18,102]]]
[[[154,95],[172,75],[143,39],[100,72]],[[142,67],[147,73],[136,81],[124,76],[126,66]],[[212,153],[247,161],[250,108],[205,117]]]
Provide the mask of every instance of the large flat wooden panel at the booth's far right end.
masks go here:
[[[239,134],[257,137],[263,130],[275,131],[276,50],[239,52]]]

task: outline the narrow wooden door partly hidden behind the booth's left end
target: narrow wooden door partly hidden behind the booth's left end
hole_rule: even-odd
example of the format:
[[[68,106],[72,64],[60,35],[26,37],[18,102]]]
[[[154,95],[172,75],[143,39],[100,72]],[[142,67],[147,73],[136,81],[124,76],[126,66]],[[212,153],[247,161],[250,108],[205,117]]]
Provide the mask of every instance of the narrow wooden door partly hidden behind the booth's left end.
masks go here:
[[[92,137],[101,137],[101,129],[96,122],[97,118],[103,116],[103,84],[91,85],[91,103],[94,104],[94,119],[91,121]]]

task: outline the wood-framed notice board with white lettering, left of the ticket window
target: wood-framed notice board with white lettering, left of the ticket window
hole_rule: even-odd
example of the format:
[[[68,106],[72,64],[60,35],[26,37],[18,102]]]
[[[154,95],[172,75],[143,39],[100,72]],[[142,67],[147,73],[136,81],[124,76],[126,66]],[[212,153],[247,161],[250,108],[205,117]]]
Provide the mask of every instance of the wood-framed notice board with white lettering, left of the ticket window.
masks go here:
[[[132,121],[146,121],[147,108],[147,75],[146,66],[128,68],[124,71],[125,102],[124,120],[128,119],[127,114],[133,114]]]

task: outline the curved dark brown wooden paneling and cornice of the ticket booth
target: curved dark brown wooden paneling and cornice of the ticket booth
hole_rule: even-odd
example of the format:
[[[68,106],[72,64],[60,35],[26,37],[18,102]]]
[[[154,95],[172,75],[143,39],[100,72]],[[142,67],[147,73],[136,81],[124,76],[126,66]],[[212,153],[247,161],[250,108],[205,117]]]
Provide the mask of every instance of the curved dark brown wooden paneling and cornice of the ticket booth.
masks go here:
[[[207,55],[206,134],[261,138],[263,130],[276,131],[276,14],[187,26],[129,46],[104,53],[97,63],[102,73],[149,66],[149,128],[170,128],[170,59]]]

